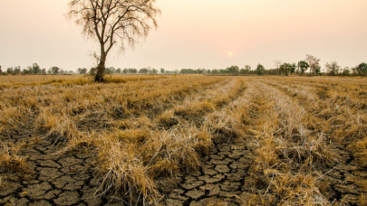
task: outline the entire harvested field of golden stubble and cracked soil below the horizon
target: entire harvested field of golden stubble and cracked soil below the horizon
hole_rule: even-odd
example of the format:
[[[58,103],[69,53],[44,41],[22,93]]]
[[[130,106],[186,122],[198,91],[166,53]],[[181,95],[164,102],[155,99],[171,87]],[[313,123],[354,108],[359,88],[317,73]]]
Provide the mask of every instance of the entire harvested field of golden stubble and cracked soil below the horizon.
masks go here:
[[[67,77],[0,85],[0,205],[367,205],[365,79]]]

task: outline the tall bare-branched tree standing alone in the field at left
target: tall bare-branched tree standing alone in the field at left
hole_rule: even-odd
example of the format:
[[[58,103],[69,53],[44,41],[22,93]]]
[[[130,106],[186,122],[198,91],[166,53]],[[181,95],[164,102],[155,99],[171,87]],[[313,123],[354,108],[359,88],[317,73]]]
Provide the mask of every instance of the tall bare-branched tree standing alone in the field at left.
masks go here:
[[[82,33],[100,42],[101,54],[95,81],[103,81],[107,55],[114,45],[121,51],[133,47],[140,37],[147,37],[151,28],[158,28],[160,14],[156,0],[71,0],[68,16],[82,25]]]

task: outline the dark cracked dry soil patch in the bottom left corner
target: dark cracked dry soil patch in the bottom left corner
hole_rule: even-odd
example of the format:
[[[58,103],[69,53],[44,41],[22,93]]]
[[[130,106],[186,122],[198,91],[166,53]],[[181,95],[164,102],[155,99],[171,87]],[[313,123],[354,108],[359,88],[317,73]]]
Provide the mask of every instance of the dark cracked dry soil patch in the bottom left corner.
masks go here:
[[[27,126],[14,129],[7,144],[27,144],[17,155],[26,156],[29,168],[23,173],[2,174],[0,205],[124,205],[122,200],[95,196],[100,178],[94,171],[96,151],[78,148],[54,155],[62,148],[48,140],[34,139]]]

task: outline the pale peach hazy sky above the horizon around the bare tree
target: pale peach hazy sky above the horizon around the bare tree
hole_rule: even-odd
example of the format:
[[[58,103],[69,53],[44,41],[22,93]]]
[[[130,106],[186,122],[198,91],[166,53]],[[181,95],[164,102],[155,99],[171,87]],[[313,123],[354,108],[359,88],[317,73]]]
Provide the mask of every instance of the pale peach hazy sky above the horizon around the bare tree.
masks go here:
[[[0,65],[92,68],[99,45],[68,20],[70,0],[0,0]],[[125,52],[115,68],[275,68],[312,54],[341,66],[367,61],[366,0],[157,0],[159,29]],[[232,52],[232,56],[228,55]]]

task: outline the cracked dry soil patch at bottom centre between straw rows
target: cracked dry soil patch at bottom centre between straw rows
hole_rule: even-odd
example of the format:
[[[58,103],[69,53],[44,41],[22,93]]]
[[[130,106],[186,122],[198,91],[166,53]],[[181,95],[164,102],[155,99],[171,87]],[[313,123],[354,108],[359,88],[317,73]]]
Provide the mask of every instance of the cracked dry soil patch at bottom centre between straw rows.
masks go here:
[[[252,164],[252,153],[238,145],[244,144],[234,141],[216,144],[204,157],[200,170],[159,180],[160,192],[167,197],[164,204],[204,206],[218,201],[226,201],[227,205],[243,204],[241,199],[251,197],[243,183]],[[246,194],[249,196],[244,197]]]

